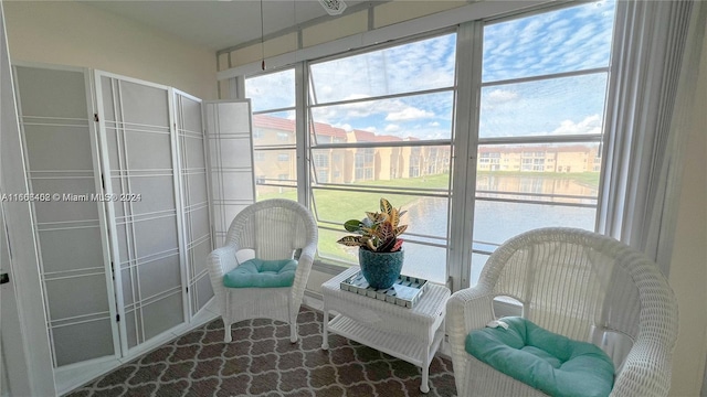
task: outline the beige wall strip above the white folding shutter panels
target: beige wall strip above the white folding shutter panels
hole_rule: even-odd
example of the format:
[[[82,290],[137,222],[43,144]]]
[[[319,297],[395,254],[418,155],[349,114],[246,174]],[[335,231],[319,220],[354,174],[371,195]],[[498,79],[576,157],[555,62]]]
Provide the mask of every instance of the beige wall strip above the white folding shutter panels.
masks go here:
[[[73,1],[6,1],[12,62],[92,67],[217,99],[215,52]]]

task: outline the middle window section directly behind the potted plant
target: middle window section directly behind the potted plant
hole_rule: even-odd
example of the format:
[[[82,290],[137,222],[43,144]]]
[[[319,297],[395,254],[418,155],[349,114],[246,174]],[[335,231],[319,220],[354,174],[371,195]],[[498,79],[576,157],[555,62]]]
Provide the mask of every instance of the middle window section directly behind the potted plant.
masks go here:
[[[455,44],[446,33],[309,64],[318,175],[309,189],[323,258],[356,264],[356,248],[331,243],[384,196],[408,211],[407,273],[446,279]],[[326,186],[325,157],[341,175]]]

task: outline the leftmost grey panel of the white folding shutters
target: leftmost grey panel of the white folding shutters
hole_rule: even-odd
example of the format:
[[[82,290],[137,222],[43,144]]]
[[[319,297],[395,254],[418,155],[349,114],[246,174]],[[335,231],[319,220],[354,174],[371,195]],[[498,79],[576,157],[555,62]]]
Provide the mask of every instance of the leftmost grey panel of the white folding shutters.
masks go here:
[[[15,66],[54,365],[117,354],[89,86],[83,69]],[[49,196],[46,195],[49,194]],[[52,196],[53,195],[53,196]]]

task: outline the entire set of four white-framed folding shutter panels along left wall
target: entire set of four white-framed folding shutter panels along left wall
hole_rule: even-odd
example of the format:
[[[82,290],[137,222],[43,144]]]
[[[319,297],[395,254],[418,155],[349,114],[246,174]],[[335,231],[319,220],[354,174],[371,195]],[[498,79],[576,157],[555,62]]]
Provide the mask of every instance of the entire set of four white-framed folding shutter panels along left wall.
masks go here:
[[[63,383],[173,337],[213,297],[205,259],[214,229],[224,235],[254,198],[250,103],[205,105],[85,68],[13,71]]]

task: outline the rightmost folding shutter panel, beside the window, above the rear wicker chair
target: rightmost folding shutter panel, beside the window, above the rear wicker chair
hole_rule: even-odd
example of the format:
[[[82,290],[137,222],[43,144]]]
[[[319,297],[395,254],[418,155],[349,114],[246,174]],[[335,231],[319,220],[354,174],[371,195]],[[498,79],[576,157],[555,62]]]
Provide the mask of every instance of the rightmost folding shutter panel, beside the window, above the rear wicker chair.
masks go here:
[[[251,101],[204,101],[217,246],[235,214],[255,201]]]

